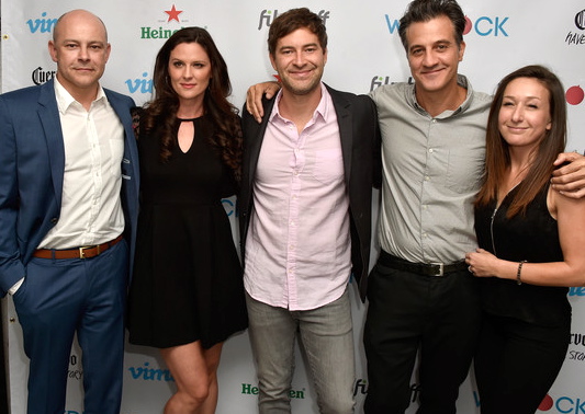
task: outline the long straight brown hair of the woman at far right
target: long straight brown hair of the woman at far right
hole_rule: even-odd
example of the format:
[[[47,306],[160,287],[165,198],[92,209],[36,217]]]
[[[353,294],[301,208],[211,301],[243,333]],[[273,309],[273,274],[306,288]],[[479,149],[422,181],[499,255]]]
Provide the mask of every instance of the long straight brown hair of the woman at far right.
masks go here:
[[[553,162],[566,145],[566,104],[564,89],[556,76],[549,69],[532,65],[520,68],[506,76],[498,84],[490,117],[487,119],[485,142],[484,182],[475,200],[476,206],[485,206],[497,199],[498,186],[504,182],[506,171],[510,166],[509,146],[499,134],[498,114],[506,87],[515,79],[531,78],[538,80],[549,91],[551,129],[538,145],[526,179],[518,184],[518,191],[508,208],[507,217],[524,214],[528,204],[548,184]]]

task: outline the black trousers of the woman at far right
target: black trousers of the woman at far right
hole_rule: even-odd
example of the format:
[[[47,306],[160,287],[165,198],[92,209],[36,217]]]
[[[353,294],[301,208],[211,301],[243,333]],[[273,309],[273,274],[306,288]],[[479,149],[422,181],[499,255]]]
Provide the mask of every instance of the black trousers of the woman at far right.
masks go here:
[[[570,340],[571,319],[549,327],[484,313],[474,361],[482,414],[533,414],[561,370]]]

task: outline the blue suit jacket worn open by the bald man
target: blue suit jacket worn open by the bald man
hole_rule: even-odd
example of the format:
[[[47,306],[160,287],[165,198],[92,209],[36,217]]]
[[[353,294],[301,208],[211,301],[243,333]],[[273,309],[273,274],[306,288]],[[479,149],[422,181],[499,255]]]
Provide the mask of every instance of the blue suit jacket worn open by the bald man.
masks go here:
[[[54,82],[0,95],[0,295],[26,275],[45,234],[58,222],[65,149]],[[131,97],[105,90],[124,125],[124,235],[134,253],[138,215],[138,152]],[[130,267],[128,267],[130,269]]]

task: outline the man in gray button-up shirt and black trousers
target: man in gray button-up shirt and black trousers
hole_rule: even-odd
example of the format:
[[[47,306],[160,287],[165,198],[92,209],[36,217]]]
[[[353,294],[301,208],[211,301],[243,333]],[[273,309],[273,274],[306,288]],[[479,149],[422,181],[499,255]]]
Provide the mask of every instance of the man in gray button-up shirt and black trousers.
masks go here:
[[[452,0],[415,0],[401,20],[415,84],[372,92],[382,131],[380,258],[369,278],[365,413],[404,413],[420,347],[419,413],[455,412],[480,327],[473,199],[491,96],[458,74],[465,18]]]

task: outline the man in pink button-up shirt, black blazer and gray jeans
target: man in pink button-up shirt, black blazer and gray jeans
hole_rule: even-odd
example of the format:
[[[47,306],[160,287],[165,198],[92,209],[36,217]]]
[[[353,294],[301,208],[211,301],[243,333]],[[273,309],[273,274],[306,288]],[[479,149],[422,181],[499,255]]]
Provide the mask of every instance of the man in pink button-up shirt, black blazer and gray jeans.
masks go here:
[[[307,9],[279,15],[269,53],[282,90],[260,125],[244,111],[244,283],[260,413],[290,412],[296,332],[322,413],[352,413],[348,281],[365,291],[375,108],[326,87],[327,34]]]

